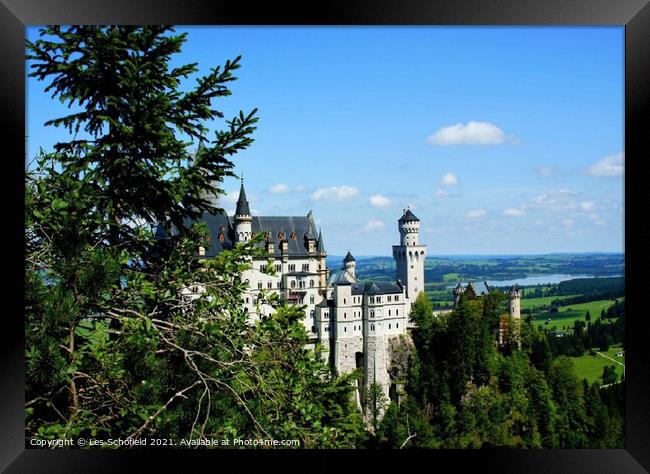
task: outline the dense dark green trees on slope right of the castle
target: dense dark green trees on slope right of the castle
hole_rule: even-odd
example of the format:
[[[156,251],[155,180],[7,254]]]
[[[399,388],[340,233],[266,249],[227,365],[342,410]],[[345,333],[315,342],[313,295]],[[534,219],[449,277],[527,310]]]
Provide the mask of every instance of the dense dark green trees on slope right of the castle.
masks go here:
[[[425,324],[413,331],[408,401],[389,407],[380,446],[623,446],[621,384],[580,382],[571,360],[554,359],[546,333],[530,322],[521,326],[521,350],[497,351],[493,318],[503,300],[493,298],[461,297],[454,312],[432,319],[423,301],[413,305],[411,317]]]

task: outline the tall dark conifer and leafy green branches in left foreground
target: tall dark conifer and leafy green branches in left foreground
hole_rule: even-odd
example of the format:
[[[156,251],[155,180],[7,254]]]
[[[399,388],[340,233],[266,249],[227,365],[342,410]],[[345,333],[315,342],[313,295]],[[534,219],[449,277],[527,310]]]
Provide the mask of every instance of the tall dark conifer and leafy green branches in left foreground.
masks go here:
[[[185,35],[169,27],[42,33],[31,75],[81,111],[48,122],[75,138],[27,175],[26,436],[362,443],[351,378],[305,349],[303,308],[244,310],[261,237],[200,261],[207,228],[184,225],[215,211],[204,191],[252,143],[254,112],[206,136],[239,58],[188,88],[197,68],[170,67]]]

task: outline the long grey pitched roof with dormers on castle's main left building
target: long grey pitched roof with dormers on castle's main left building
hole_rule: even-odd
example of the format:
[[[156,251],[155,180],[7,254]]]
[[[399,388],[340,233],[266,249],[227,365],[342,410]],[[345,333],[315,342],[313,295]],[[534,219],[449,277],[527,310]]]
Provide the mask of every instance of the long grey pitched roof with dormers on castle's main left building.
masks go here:
[[[283,235],[288,243],[290,257],[309,256],[309,245],[306,235],[315,235],[313,220],[307,216],[252,216],[251,230],[254,234],[268,232],[269,242],[274,242],[273,252],[275,257],[280,257],[282,251],[279,245],[279,236]],[[235,245],[234,217],[225,213],[203,214],[198,221],[205,222],[210,232],[210,246],[205,250],[206,257],[214,257],[224,249],[231,249]],[[192,220],[186,219],[183,224],[189,227]],[[295,233],[295,239],[292,234]],[[221,237],[223,236],[223,237]],[[260,247],[265,244],[262,242]]]

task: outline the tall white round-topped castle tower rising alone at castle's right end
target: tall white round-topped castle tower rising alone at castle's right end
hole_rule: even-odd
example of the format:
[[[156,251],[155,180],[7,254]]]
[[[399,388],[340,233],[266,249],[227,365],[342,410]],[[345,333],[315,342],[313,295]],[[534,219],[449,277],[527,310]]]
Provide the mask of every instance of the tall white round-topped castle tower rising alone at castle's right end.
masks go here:
[[[420,219],[410,209],[398,221],[400,245],[393,245],[393,258],[397,267],[397,279],[406,287],[406,297],[415,301],[424,291],[424,259],[427,246],[418,243]]]

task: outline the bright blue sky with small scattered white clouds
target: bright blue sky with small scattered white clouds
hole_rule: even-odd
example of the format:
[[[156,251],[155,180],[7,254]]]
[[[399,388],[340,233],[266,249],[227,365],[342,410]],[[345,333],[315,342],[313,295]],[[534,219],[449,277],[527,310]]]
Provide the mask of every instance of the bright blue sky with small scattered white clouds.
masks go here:
[[[312,209],[330,254],[390,255],[407,206],[430,255],[623,251],[622,27],[177,31],[174,65],[242,55],[214,105],[259,109],[235,159],[252,212]],[[30,156],[65,137],[44,87],[28,80]]]

